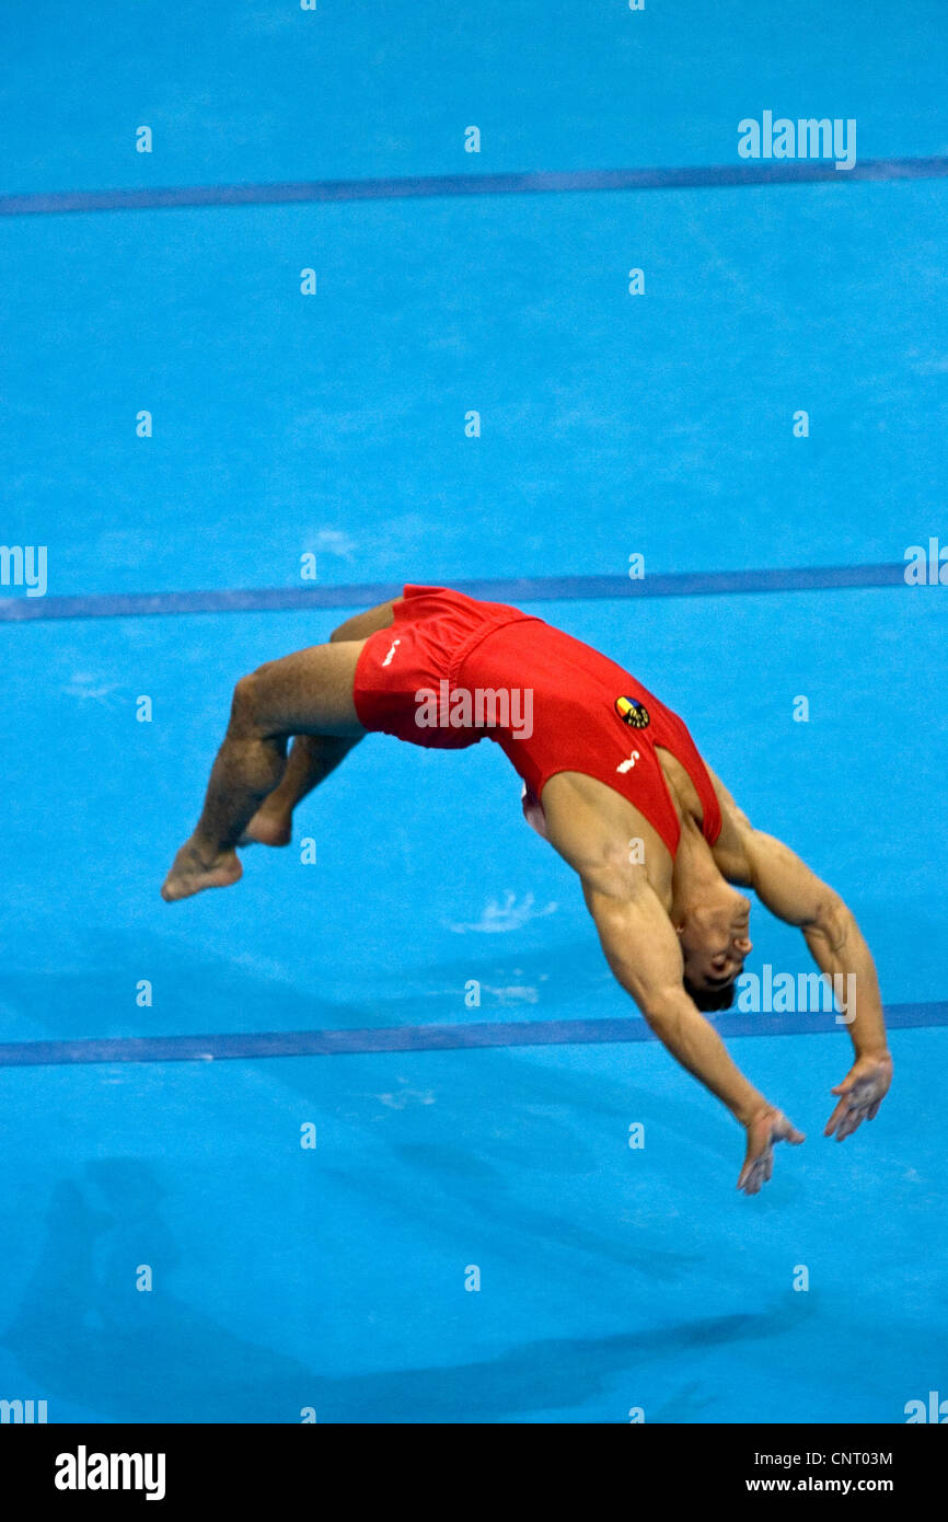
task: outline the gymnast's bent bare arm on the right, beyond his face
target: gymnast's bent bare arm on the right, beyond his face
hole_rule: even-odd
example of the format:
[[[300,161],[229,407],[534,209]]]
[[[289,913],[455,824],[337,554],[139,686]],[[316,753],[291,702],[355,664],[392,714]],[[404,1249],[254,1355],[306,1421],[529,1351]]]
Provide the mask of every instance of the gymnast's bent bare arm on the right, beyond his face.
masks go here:
[[[832,979],[834,989],[845,991],[843,1014],[855,1062],[832,1090],[838,1102],[825,1131],[843,1142],[863,1120],[875,1119],[892,1082],[875,962],[855,915],[834,889],[781,840],[750,825],[741,833],[749,884],[778,919],[803,931],[820,973]]]

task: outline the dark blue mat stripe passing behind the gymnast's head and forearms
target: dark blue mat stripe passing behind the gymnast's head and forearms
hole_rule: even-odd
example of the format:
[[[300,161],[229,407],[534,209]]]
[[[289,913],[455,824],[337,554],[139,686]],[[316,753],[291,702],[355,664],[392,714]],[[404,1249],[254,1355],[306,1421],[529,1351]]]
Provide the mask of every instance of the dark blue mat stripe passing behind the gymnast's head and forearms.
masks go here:
[[[948,1001],[890,1005],[890,1030],[948,1026]],[[729,1014],[714,1020],[726,1036],[796,1036],[845,1032],[832,1011]],[[487,1047],[609,1046],[656,1041],[644,1020],[530,1020],[505,1024],[377,1026],[368,1030],[250,1030],[196,1036],[116,1036],[84,1041],[8,1041],[0,1067],[73,1062],[213,1062],[268,1056],[356,1056],[383,1052],[458,1052]]]

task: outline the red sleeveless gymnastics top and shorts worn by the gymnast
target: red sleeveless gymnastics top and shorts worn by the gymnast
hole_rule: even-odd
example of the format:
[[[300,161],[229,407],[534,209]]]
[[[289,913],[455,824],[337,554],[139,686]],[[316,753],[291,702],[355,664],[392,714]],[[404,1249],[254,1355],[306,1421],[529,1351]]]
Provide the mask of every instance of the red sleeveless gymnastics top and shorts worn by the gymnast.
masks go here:
[[[718,801],[677,714],[628,671],[542,618],[440,586],[406,586],[394,624],[367,639],[353,700],[370,732],[463,749],[495,740],[523,778],[523,811],[543,833],[540,798],[557,772],[581,772],[639,810],[674,857],[679,816],[656,746],[694,782],[701,831],[721,829]]]

